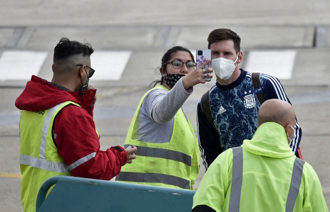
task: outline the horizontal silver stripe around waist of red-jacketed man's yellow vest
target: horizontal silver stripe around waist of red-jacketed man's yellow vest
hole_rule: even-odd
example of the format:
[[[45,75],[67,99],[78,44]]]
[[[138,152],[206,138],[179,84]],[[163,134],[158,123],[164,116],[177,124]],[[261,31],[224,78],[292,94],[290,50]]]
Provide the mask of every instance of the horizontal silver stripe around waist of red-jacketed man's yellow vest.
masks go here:
[[[34,158],[29,155],[19,155],[19,164],[40,168],[51,172],[69,173],[65,163],[46,161],[41,158]]]

